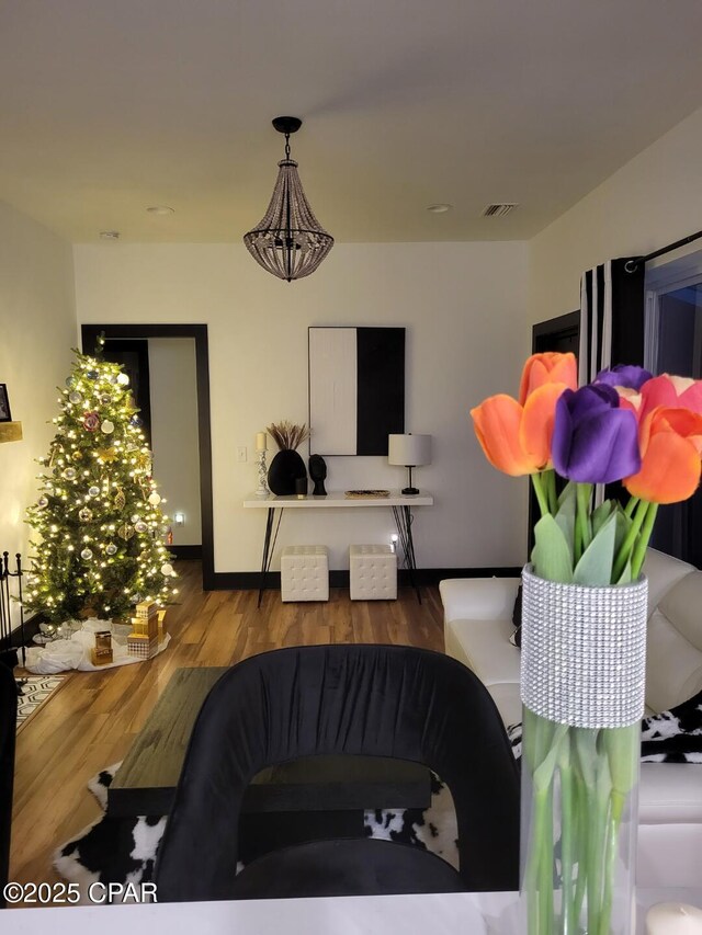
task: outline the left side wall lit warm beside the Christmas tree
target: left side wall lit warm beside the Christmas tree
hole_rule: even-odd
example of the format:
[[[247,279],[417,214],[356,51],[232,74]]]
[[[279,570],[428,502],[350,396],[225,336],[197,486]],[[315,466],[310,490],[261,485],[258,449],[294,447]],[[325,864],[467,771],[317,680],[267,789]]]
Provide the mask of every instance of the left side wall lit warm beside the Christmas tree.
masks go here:
[[[29,559],[26,506],[37,497],[35,458],[48,454],[56,387],[78,343],[70,244],[0,203],[0,383],[23,441],[0,444],[0,550]]]

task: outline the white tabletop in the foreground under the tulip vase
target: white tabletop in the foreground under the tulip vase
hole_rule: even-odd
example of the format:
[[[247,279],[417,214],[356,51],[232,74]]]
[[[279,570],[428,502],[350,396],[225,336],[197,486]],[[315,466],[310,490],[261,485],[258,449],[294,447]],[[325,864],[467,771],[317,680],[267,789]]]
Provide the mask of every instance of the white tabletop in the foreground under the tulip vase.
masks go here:
[[[639,890],[636,933],[657,902],[702,908],[702,889]],[[516,893],[242,900],[8,910],[3,935],[521,935]]]

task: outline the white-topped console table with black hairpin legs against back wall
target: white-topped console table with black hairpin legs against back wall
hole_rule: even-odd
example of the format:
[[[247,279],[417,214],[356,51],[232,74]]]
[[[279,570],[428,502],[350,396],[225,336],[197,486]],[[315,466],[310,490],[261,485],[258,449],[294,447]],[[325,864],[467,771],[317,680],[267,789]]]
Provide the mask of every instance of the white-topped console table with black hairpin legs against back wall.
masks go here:
[[[405,495],[398,491],[390,491],[389,497],[346,497],[342,490],[333,490],[327,493],[326,497],[315,497],[314,494],[291,497],[276,497],[274,493],[268,497],[257,497],[254,493],[249,494],[244,501],[245,508],[254,510],[268,510],[265,521],[265,536],[263,538],[263,555],[261,556],[261,578],[259,586],[258,606],[261,606],[261,598],[265,590],[265,580],[271,567],[271,558],[278,532],[281,526],[284,510],[359,510],[369,506],[389,508],[395,516],[399,543],[403,547],[405,557],[405,566],[409,571],[409,581],[417,593],[417,600],[421,604],[421,595],[415,579],[417,563],[415,560],[415,541],[412,538],[412,506],[431,506],[433,505],[433,497],[419,493],[415,495]],[[275,523],[275,511],[279,511],[278,523]],[[273,532],[275,527],[275,532]]]

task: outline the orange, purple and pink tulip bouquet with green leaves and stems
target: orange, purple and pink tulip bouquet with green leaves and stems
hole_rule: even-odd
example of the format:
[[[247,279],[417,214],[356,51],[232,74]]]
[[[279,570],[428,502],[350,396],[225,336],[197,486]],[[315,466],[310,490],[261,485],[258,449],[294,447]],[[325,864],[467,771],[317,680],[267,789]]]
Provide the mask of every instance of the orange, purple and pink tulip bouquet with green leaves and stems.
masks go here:
[[[687,500],[700,482],[700,380],[616,366],[578,389],[573,354],[535,354],[518,399],[494,396],[471,414],[490,464],[531,477],[541,518],[530,574],[545,582],[610,593],[635,586],[658,505]],[[629,493],[625,505],[596,505],[595,484],[614,481]],[[528,663],[522,654],[522,669]],[[584,924],[592,935],[609,935],[618,840],[638,775],[639,722],[634,716],[624,727],[574,727],[528,705],[523,719],[528,931],[577,932]]]

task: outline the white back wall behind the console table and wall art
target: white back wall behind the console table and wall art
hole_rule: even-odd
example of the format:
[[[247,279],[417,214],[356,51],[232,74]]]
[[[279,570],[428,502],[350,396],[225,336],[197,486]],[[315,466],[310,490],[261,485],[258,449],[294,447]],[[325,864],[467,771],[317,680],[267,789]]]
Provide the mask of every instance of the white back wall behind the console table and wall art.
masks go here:
[[[242,246],[75,247],[80,322],[205,322],[210,334],[215,567],[260,566],[262,511],[241,501],[257,486],[254,435],[281,419],[307,421],[307,328],[407,328],[407,431],[434,436],[434,459],[416,482],[435,505],[416,511],[419,567],[523,561],[524,483],[499,475],[474,438],[468,410],[516,392],[529,349],[526,246],[337,244],[308,280],[287,284]],[[236,446],[249,461],[236,461]],[[301,452],[305,459],[308,448]],[[384,458],[329,458],[327,489],[398,488]],[[324,543],[332,568],[350,543],[387,541],[388,511],[292,511],[280,545]]]

